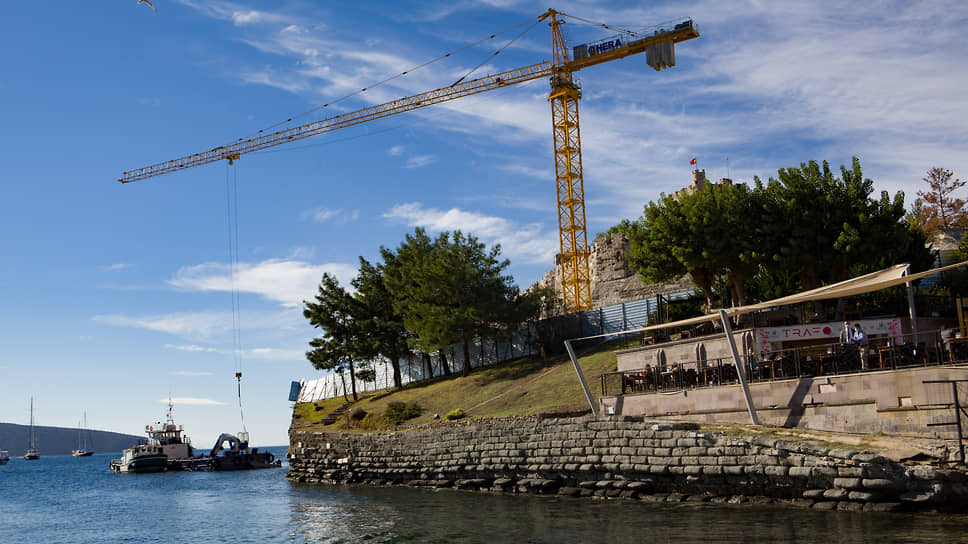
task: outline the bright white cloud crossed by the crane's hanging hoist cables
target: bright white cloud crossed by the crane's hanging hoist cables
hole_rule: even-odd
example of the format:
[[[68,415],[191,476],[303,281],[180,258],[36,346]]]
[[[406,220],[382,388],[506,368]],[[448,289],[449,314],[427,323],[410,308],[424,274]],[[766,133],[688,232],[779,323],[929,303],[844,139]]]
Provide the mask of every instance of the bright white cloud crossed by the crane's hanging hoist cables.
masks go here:
[[[312,297],[324,272],[336,276],[340,284],[349,285],[356,275],[356,267],[276,259],[256,264],[239,263],[235,285],[239,292],[255,293],[285,307],[296,307]],[[233,291],[231,268],[222,263],[182,267],[168,283],[188,291]]]

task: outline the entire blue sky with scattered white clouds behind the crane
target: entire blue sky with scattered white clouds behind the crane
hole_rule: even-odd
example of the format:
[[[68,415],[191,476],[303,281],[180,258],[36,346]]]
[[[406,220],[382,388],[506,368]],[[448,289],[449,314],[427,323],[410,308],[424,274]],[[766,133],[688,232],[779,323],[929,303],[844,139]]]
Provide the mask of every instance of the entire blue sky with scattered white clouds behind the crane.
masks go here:
[[[238,189],[241,367],[257,445],[286,443],[302,318],[414,227],[502,244],[527,286],[557,223],[547,82],[122,185],[125,170],[450,85],[506,42],[343,97],[544,12],[546,2],[10,2],[0,20],[0,421],[139,434],[175,398],[199,445],[239,430],[226,180]],[[589,237],[688,184],[861,159],[908,203],[966,174],[960,2],[562,2],[630,29],[692,17],[678,66],[583,71]],[[571,45],[604,38],[569,22]],[[496,42],[496,43],[495,43]],[[539,25],[475,75],[550,60]],[[315,111],[311,111],[315,110]],[[728,166],[727,166],[728,165]],[[961,195],[964,197],[964,195]],[[3,445],[0,444],[0,448]],[[42,445],[41,445],[42,449]]]

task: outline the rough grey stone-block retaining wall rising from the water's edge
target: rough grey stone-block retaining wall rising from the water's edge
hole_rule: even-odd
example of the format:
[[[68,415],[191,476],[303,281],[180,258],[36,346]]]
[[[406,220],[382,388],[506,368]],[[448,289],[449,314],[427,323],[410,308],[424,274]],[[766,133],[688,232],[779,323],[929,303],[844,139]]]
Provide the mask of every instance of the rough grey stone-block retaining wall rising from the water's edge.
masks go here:
[[[964,510],[959,470],[638,418],[503,418],[396,433],[293,431],[290,480],[817,509]]]

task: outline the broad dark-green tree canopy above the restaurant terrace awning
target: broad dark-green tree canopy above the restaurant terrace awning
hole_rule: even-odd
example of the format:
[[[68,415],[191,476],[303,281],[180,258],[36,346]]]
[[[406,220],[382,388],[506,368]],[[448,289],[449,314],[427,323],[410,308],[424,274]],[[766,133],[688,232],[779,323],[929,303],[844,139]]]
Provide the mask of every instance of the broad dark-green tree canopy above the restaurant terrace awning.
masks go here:
[[[649,282],[689,273],[717,306],[717,278],[734,304],[774,298],[845,280],[899,261],[930,266],[925,236],[909,223],[904,194],[872,198],[860,161],[840,167],[815,161],[784,168],[753,187],[707,183],[662,195],[637,221],[617,228],[630,239],[629,264]]]

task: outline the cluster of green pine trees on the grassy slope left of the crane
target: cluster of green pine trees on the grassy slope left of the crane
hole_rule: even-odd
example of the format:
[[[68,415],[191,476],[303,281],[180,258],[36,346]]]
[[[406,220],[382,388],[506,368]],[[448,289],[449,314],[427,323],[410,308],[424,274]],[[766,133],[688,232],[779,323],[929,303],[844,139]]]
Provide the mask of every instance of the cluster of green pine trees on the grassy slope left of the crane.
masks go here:
[[[314,300],[304,302],[303,315],[323,330],[307,359],[320,370],[348,370],[354,398],[354,373],[360,375],[354,361],[385,358],[399,388],[401,359],[417,351],[429,361],[429,354],[443,356],[444,348],[460,345],[467,374],[471,342],[510,335],[537,313],[540,295],[519,293],[505,274],[510,263],[500,258],[500,246],[488,249],[460,231],[432,239],[416,229],[396,250],[380,248],[380,254],[382,263],[360,258],[352,293],[323,274]]]

